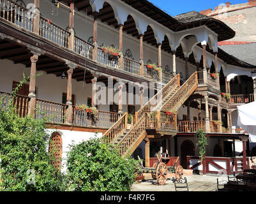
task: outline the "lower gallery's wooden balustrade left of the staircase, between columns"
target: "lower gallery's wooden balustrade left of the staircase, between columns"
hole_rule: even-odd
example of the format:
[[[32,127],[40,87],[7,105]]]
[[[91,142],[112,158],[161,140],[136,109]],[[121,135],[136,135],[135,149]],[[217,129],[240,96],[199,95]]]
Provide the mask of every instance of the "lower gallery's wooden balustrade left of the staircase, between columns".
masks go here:
[[[6,108],[10,105],[11,94],[7,92],[0,92],[1,108]],[[17,95],[14,98],[15,112],[20,117],[27,115],[29,106],[29,98],[27,96]],[[36,99],[36,111],[34,113],[35,119],[42,119],[47,117],[49,124],[66,124],[66,109],[67,105],[46,101],[43,99]],[[84,128],[102,128],[109,129],[119,119],[119,113],[98,111],[96,115],[87,113],[86,111],[75,110],[73,106],[72,125]]]

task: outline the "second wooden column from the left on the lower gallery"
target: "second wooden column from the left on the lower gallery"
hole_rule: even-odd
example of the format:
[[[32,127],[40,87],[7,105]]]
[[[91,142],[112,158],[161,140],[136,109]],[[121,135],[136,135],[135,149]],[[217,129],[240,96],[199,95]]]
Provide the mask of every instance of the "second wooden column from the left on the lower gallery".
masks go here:
[[[66,110],[66,123],[72,124],[72,74],[73,69],[70,68],[67,71],[68,73],[68,86],[66,92],[66,105],[68,105],[68,109]]]

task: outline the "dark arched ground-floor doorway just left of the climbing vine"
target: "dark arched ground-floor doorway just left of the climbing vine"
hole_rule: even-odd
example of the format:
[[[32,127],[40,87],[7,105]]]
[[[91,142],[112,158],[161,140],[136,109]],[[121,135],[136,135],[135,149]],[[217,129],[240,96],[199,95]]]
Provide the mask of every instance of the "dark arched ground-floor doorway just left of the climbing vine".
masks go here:
[[[186,156],[195,156],[195,145],[190,140],[185,140],[181,144],[181,166],[187,168]]]

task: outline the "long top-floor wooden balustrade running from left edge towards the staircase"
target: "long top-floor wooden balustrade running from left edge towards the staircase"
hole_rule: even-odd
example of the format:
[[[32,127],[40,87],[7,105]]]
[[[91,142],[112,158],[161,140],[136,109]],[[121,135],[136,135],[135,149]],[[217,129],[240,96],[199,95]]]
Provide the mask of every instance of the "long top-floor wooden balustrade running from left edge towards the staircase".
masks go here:
[[[145,67],[142,68],[140,62],[123,55],[112,56],[102,50],[101,47],[94,47],[91,43],[79,38],[79,36],[73,35],[70,31],[59,27],[51,20],[40,16],[38,25],[36,20],[31,18],[31,11],[27,10],[20,4],[15,3],[12,0],[2,0],[0,8],[0,19],[3,22],[13,25],[15,28],[22,28],[22,31],[29,31],[28,34],[39,35],[49,43],[60,48],[66,48],[72,53],[80,55],[80,57],[86,57],[91,62],[96,62],[99,66],[119,69],[124,71],[126,75],[131,73],[137,77],[151,80],[153,82],[162,82],[162,77],[154,71],[147,71]],[[39,32],[36,33],[34,29],[39,27]],[[142,70],[140,70],[142,69]],[[172,75],[168,73],[163,74],[163,83],[167,84],[172,78]]]

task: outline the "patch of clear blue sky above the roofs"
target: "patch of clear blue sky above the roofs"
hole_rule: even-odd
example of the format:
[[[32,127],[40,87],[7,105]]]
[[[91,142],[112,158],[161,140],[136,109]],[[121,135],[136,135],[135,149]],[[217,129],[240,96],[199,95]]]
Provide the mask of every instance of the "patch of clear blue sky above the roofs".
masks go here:
[[[189,11],[201,11],[208,8],[215,9],[221,3],[229,2],[229,0],[148,0],[156,6],[167,11],[171,16],[179,15]],[[231,0],[231,4],[247,3],[248,0]]]

